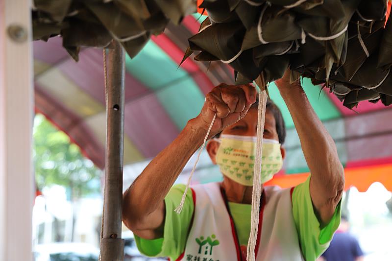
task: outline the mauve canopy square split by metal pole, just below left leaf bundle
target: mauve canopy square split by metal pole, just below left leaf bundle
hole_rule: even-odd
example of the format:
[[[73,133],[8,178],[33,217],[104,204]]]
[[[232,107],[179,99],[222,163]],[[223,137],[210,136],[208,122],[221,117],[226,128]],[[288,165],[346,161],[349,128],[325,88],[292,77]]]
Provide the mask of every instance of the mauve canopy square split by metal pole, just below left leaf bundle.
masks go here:
[[[86,48],[79,54],[79,62],[72,58],[58,68],[96,100],[105,104],[105,78],[102,49]],[[125,101],[148,93],[148,89],[129,73],[125,73]]]

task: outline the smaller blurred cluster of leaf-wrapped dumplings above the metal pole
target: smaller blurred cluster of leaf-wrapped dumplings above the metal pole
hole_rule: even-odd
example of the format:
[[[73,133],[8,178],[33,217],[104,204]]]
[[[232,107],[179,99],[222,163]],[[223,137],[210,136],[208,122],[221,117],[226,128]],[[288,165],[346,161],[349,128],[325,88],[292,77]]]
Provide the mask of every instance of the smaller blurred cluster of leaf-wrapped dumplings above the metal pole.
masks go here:
[[[151,34],[196,12],[196,0],[33,0],[33,39],[61,35],[78,60],[81,46],[107,47],[113,39],[134,57]]]

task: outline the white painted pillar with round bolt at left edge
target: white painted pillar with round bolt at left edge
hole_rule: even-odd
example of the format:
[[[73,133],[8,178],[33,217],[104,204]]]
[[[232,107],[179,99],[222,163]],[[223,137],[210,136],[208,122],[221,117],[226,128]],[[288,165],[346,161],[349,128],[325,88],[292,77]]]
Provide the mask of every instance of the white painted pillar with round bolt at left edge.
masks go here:
[[[0,0],[0,261],[31,261],[30,0]]]

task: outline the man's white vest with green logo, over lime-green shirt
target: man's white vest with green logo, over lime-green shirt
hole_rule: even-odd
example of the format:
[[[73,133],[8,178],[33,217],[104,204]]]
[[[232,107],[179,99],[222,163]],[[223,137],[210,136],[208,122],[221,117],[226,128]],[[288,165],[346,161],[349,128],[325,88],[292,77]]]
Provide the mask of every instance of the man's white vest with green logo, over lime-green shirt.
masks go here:
[[[227,212],[220,184],[196,185],[192,190],[196,194],[193,224],[185,251],[177,260],[241,261],[234,223]],[[290,189],[265,187],[263,196],[256,260],[303,261]]]

